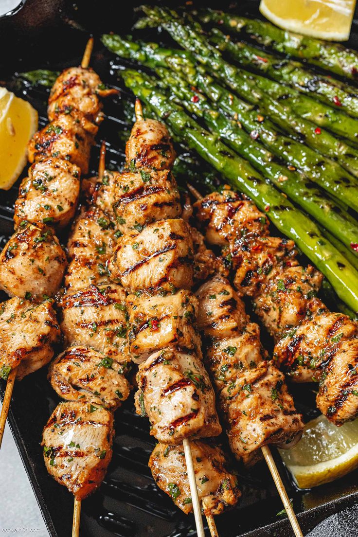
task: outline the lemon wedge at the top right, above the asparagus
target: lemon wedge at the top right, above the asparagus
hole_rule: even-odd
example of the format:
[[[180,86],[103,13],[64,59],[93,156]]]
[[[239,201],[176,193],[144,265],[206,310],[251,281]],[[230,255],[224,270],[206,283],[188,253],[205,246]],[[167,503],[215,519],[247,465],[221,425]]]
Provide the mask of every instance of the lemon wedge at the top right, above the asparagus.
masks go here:
[[[355,0],[261,0],[261,13],[284,30],[322,39],[349,38]]]

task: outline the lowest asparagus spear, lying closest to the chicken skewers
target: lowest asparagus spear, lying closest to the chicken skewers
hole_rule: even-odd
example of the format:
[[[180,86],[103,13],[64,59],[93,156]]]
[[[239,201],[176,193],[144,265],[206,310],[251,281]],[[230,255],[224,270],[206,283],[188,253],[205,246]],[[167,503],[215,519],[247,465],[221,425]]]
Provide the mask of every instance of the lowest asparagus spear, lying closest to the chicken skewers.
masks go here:
[[[284,235],[296,241],[298,248],[330,280],[340,298],[353,310],[358,310],[358,272],[328,241],[323,241],[316,224],[299,212],[273,185],[262,180],[250,164],[189,117],[181,106],[156,90],[156,79],[130,69],[121,74],[126,86],[159,118],[165,118],[189,148],[198,151],[233,187],[244,192],[265,211]]]

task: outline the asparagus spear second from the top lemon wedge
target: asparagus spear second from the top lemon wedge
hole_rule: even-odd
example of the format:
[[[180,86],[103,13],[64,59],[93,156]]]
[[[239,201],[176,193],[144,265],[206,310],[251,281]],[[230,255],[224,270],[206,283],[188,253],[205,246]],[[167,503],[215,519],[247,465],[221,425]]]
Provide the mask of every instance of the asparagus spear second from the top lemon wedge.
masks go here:
[[[339,107],[354,118],[358,115],[357,90],[352,86],[324,75],[305,69],[303,64],[287,58],[280,58],[244,42],[233,42],[217,28],[209,34],[220,48],[228,50],[243,66],[263,72],[269,77],[293,86],[302,93],[308,93],[332,107]]]

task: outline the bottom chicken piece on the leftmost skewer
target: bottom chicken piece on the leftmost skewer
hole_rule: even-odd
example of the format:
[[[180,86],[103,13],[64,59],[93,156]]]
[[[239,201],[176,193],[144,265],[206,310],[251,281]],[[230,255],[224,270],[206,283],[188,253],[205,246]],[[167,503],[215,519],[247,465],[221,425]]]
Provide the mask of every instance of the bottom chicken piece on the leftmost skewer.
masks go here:
[[[52,301],[34,305],[14,297],[0,304],[0,377],[7,379],[17,368],[16,378],[37,371],[54,355],[60,327]]]

